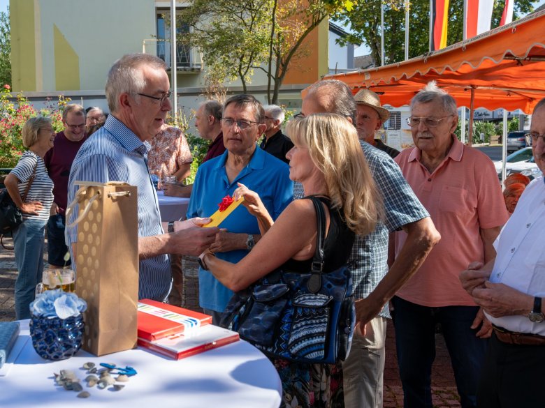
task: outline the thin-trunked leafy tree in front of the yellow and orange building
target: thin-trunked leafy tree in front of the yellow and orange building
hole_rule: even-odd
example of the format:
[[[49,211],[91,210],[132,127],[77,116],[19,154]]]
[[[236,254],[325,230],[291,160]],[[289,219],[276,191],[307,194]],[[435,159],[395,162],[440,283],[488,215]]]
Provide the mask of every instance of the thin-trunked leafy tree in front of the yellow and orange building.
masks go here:
[[[180,13],[180,24],[191,30],[179,40],[202,50],[214,83],[239,78],[246,92],[254,70],[263,70],[268,102],[277,103],[294,59],[308,52],[305,38],[330,14],[353,6],[347,0],[195,0]]]

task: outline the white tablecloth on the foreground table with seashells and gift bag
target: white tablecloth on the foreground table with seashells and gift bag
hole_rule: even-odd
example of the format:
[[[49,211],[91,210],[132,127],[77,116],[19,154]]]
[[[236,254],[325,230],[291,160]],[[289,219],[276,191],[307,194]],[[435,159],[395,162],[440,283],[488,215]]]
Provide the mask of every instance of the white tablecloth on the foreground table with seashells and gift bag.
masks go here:
[[[29,339],[28,320],[17,341],[27,340],[6,377],[0,377],[0,407],[126,408],[278,408],[282,386],[274,366],[249,343],[240,340],[181,360],[137,349],[95,357],[80,350],[63,361],[43,360]],[[121,391],[87,388],[86,361],[129,365],[138,375]],[[91,396],[54,385],[53,373],[75,370]],[[119,383],[118,383],[119,384]]]

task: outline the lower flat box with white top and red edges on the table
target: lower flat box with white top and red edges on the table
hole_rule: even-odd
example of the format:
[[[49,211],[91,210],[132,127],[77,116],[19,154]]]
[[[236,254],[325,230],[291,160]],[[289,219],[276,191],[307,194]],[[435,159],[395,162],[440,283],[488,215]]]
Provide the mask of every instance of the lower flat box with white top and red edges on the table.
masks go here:
[[[154,341],[138,338],[138,345],[163,356],[180,360],[180,358],[194,356],[238,340],[237,332],[208,324],[191,331],[188,335],[177,333]]]

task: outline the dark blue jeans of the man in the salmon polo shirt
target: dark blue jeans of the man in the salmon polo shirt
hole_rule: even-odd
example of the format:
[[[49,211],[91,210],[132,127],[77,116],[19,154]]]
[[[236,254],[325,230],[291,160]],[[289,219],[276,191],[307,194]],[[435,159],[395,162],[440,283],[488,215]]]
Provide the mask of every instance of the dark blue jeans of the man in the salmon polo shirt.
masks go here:
[[[394,296],[393,324],[405,408],[432,408],[431,371],[435,325],[441,324],[451,357],[462,408],[477,407],[477,385],[488,340],[475,336],[471,324],[477,306],[429,308]]]

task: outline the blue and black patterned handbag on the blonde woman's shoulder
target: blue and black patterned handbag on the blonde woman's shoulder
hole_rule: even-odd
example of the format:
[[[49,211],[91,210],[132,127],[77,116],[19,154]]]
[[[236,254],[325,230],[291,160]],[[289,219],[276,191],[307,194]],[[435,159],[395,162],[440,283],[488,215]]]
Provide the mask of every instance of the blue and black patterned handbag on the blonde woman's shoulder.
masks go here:
[[[233,295],[220,326],[238,331],[270,358],[337,363],[348,356],[356,311],[347,266],[323,273],[326,216],[316,197],[317,243],[310,273],[274,271]]]

